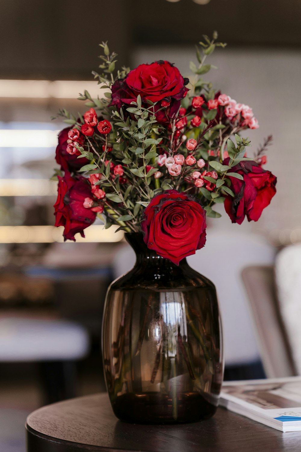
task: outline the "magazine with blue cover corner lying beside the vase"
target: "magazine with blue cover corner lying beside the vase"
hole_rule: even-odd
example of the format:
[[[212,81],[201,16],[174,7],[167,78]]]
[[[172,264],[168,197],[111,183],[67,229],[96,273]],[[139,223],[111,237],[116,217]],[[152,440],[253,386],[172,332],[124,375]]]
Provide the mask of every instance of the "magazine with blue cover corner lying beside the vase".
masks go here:
[[[301,377],[225,381],[220,405],[282,432],[301,430]]]

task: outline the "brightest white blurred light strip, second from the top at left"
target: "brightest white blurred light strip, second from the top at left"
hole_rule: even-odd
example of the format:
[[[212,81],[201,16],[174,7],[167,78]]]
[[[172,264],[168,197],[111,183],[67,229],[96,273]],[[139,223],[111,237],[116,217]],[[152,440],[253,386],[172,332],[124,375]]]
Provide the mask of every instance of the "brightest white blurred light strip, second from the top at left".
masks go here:
[[[0,130],[0,147],[56,147],[59,130]]]

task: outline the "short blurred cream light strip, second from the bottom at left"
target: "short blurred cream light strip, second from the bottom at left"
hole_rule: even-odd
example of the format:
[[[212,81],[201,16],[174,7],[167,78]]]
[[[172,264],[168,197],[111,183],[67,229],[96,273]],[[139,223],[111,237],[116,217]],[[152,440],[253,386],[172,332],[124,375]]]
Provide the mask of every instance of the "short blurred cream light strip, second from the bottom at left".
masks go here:
[[[0,179],[0,196],[53,196],[57,184],[47,179]]]

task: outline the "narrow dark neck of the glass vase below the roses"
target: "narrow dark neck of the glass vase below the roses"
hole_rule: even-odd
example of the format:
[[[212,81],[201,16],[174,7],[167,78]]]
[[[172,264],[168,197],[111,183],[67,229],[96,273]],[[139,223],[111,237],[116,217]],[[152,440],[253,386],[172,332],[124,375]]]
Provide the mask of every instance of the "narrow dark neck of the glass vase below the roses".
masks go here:
[[[142,267],[168,267],[180,270],[188,266],[186,259],[182,259],[179,265],[173,264],[169,259],[159,256],[155,251],[150,250],[144,243],[142,232],[126,233],[125,239],[133,248],[136,254],[135,266]]]

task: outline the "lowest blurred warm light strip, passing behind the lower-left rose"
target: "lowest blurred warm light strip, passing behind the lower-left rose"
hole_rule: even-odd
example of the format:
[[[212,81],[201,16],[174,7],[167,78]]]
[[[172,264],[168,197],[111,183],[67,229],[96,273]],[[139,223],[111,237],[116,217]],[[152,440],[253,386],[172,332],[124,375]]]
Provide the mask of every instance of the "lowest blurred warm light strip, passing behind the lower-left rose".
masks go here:
[[[105,229],[92,225],[85,229],[85,238],[76,234],[76,242],[119,242],[123,231],[115,232],[118,226]],[[0,226],[0,243],[52,243],[63,242],[64,228],[55,226]]]

